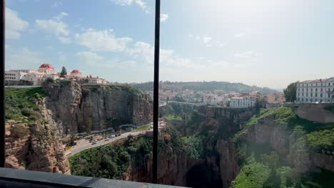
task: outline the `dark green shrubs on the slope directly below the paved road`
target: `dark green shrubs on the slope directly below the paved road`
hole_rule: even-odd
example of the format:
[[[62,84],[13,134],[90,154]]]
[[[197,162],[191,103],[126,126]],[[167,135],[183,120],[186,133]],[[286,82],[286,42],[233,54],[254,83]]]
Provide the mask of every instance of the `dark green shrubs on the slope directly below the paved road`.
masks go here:
[[[123,145],[106,145],[80,152],[69,158],[71,173],[86,177],[124,179],[131,162],[140,163],[151,157],[151,139],[126,138]]]

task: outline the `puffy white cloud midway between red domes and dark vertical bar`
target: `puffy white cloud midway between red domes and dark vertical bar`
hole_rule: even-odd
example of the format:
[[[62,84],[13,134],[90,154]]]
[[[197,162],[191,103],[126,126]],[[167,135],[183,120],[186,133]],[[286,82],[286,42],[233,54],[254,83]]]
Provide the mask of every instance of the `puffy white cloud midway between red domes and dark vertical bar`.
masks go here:
[[[125,51],[131,38],[117,38],[112,30],[97,31],[92,28],[83,33],[76,33],[76,42],[81,46],[90,48],[91,51]]]

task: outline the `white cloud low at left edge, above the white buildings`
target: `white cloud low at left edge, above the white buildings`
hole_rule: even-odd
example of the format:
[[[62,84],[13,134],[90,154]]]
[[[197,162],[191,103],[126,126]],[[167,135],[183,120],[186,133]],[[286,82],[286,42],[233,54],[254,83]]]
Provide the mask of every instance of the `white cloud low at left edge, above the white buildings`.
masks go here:
[[[36,66],[46,61],[41,58],[39,53],[31,51],[29,48],[6,48],[6,70],[21,69],[23,62],[25,68],[36,68]]]

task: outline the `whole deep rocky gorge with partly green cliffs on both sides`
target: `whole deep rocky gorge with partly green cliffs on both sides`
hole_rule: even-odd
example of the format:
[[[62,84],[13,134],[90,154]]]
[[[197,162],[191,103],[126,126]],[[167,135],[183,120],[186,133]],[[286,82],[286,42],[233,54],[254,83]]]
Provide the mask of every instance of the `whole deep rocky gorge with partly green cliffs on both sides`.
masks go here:
[[[72,157],[70,165],[59,142],[62,135],[151,122],[148,95],[128,85],[92,87],[66,81],[6,90],[6,99],[7,167],[57,173],[71,168],[77,175],[151,182],[149,136],[86,150]],[[308,109],[303,107],[306,117]],[[296,112],[295,106],[251,110],[166,105],[160,109],[167,128],[158,143],[158,182],[187,187],[333,187],[334,123],[305,120]],[[96,160],[89,157],[93,153]],[[78,171],[83,167],[87,170]]]

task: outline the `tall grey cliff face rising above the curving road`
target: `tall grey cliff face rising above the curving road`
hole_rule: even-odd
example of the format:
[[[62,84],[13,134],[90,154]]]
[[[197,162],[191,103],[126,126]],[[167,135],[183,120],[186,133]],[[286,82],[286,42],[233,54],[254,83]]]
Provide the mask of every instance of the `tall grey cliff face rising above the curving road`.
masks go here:
[[[152,120],[148,95],[127,85],[83,86],[74,81],[44,85],[46,108],[64,134],[103,130],[121,124],[143,125]]]

